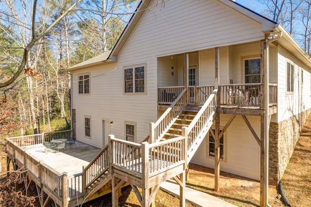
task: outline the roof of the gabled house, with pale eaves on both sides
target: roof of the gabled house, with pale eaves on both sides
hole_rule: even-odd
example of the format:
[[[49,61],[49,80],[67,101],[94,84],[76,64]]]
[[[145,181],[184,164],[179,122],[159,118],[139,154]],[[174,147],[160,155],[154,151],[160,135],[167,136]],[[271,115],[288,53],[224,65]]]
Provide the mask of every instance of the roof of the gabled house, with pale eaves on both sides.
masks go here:
[[[261,24],[261,31],[266,36],[269,35],[270,31],[276,30],[277,32],[283,32],[283,38],[277,40],[277,42],[281,43],[287,50],[292,52],[294,55],[299,56],[298,59],[305,63],[307,66],[311,68],[311,57],[304,52],[304,50],[299,46],[299,44],[294,40],[294,38],[286,31],[286,29],[278,24],[275,21],[267,17],[263,17],[262,15],[242,6],[241,4],[232,1],[232,0],[215,0],[222,3],[224,6],[233,9],[242,15],[251,18]],[[136,11],[133,16],[130,18],[129,23],[124,28],[120,38],[115,44],[114,48],[110,52],[105,52],[100,54],[94,58],[86,60],[82,63],[79,63],[75,66],[70,67],[68,70],[82,69],[89,66],[95,66],[104,63],[117,62],[117,57],[120,54],[123,46],[129,39],[130,35],[138,25],[140,18],[143,14],[150,9],[150,4],[152,0],[141,0],[138,4]]]

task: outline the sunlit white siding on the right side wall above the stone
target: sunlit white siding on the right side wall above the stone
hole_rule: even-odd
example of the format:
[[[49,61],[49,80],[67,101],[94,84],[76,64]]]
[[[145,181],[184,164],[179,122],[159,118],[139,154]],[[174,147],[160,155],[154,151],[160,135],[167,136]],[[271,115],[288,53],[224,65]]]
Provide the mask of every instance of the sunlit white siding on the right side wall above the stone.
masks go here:
[[[305,70],[307,68],[299,60],[295,59],[289,52],[279,46],[278,50],[278,72],[277,72],[277,121],[286,120],[302,111],[311,108],[311,75]],[[294,64],[294,92],[287,92],[287,62]],[[304,70],[304,82],[301,82],[301,69]]]

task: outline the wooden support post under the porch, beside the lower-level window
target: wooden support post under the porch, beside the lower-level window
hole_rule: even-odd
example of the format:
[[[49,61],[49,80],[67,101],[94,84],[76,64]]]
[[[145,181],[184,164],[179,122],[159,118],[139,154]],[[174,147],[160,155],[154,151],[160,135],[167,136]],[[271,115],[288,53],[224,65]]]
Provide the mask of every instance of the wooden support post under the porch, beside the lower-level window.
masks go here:
[[[220,115],[217,113],[215,119],[215,191],[219,191],[219,174],[220,174],[220,138],[219,138]]]

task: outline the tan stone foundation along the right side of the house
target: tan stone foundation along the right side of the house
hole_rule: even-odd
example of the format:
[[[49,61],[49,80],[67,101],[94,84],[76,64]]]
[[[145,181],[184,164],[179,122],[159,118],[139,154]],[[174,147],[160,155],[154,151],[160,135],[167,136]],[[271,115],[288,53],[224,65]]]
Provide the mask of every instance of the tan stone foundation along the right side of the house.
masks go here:
[[[311,109],[269,127],[269,184],[277,185],[294,152],[301,129]]]

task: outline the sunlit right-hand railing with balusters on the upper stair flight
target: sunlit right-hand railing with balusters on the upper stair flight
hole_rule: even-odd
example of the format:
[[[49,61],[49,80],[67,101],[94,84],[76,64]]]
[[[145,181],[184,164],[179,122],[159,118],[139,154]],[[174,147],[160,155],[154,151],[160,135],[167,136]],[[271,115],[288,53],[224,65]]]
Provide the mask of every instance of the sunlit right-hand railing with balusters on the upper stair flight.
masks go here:
[[[217,91],[218,89],[214,89],[212,94],[208,97],[205,104],[196,114],[196,116],[191,121],[190,125],[187,129],[187,135],[185,137],[188,138],[188,152],[193,150],[192,144],[196,141],[196,143],[201,143],[204,139],[206,133],[208,132],[209,128],[213,124],[213,117],[216,114],[217,110]],[[204,129],[204,131],[202,131]],[[204,135],[204,136],[202,136]],[[190,153],[188,153],[187,162],[189,163],[191,160]],[[187,163],[187,164],[188,164]]]

